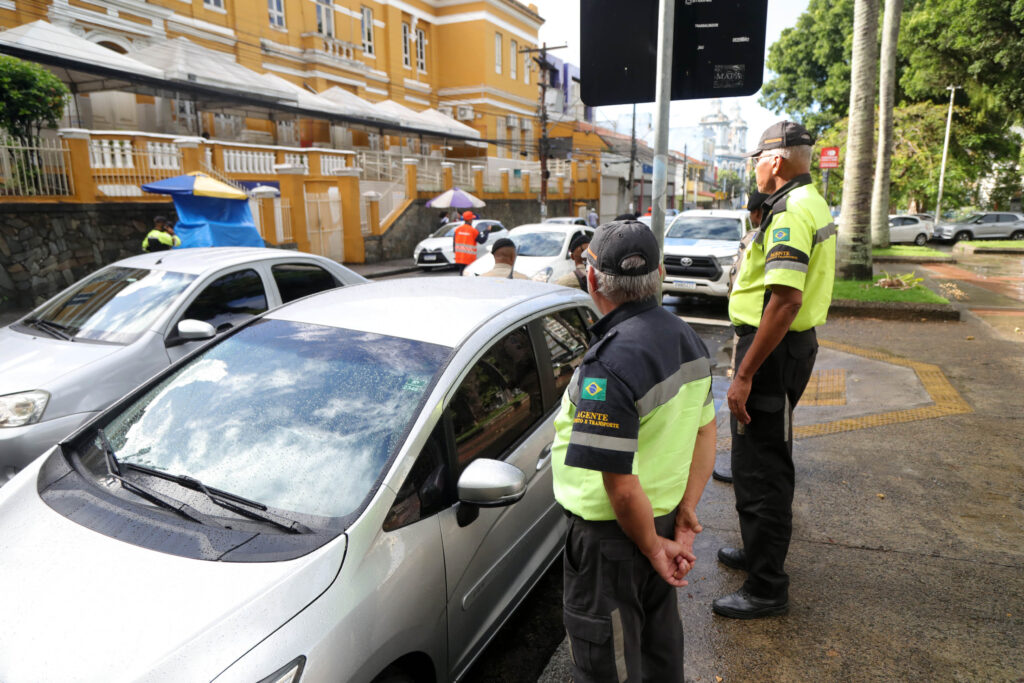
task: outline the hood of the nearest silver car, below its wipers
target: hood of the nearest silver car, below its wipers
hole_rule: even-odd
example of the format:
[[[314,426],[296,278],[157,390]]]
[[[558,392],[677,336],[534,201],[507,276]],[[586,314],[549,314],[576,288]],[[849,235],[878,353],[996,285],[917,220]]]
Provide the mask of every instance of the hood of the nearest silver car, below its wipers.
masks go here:
[[[0,680],[209,681],[341,567],[344,536],[295,560],[253,563],[116,541],[40,499],[44,460],[0,488]]]

